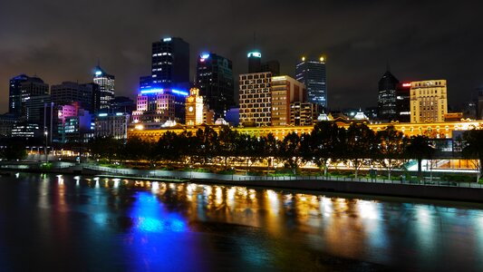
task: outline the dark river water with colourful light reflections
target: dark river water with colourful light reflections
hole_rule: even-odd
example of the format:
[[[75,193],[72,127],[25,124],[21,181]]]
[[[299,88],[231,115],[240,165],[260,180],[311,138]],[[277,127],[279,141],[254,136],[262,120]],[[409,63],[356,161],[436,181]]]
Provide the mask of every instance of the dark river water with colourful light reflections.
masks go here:
[[[20,173],[0,271],[483,271],[481,204]]]

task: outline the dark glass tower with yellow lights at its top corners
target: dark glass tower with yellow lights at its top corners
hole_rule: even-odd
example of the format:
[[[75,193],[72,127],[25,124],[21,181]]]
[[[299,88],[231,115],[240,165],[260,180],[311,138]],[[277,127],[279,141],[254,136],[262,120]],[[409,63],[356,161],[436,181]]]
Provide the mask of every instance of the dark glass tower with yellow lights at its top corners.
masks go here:
[[[295,66],[295,79],[307,88],[307,102],[327,108],[327,75],[325,58],[308,60],[302,57]]]

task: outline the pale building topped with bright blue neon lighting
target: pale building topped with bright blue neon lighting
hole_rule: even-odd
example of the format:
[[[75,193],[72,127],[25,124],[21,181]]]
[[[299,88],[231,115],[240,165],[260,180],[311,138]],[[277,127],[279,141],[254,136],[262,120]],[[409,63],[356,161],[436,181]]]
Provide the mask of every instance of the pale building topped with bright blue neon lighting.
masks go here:
[[[188,92],[175,89],[144,89],[138,93],[133,122],[166,122],[176,120],[176,103],[188,96]],[[184,106],[184,102],[182,102]],[[184,112],[184,110],[183,110]],[[183,116],[184,120],[184,116]]]

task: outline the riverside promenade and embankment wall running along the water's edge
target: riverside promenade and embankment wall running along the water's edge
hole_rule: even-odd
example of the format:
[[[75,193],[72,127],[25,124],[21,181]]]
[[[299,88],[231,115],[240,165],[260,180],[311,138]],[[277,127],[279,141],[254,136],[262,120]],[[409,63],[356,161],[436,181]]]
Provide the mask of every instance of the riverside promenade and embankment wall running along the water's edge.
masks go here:
[[[95,164],[64,164],[49,170],[34,167],[6,166],[2,170],[51,172],[96,176],[100,179],[150,180],[166,182],[194,182],[203,184],[235,185],[275,189],[300,189],[352,194],[382,195],[420,199],[444,199],[483,202],[483,184],[424,180],[382,180],[365,178],[337,178],[324,176],[250,176],[242,174],[215,174],[209,172],[176,170],[133,170],[109,168]]]

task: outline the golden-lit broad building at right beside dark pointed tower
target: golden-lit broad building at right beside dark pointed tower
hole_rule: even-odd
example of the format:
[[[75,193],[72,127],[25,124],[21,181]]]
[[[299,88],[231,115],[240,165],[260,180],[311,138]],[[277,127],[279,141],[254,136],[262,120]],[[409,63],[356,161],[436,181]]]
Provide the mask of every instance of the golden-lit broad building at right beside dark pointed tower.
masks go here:
[[[440,122],[448,113],[446,80],[411,83],[411,122]]]

